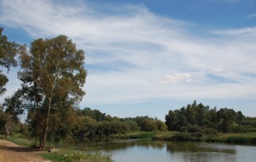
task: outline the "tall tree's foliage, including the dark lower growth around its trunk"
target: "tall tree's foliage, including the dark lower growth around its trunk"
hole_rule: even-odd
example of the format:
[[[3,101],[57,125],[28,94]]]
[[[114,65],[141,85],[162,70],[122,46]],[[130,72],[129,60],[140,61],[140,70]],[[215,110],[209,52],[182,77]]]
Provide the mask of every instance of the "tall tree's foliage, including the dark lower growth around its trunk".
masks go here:
[[[29,52],[24,50],[19,58],[18,77],[24,87],[31,89],[29,102],[34,104],[29,107],[29,117],[33,117],[29,124],[35,126],[33,131],[40,137],[40,148],[44,149],[49,133],[70,138],[76,123],[72,109],[85,94],[83,50],[77,50],[72,40],[60,35],[33,41]]]

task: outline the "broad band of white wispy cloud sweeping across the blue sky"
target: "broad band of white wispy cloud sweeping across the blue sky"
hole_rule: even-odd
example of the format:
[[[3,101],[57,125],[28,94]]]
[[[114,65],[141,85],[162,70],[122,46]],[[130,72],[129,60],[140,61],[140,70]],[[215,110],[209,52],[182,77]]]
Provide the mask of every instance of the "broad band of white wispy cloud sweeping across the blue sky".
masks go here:
[[[255,78],[243,75],[255,74],[255,27],[202,37],[191,33],[188,22],[159,17],[143,5],[103,9],[86,1],[49,0],[1,1],[0,23],[33,38],[66,34],[83,48],[88,78],[82,104],[238,98],[256,92]],[[209,75],[220,82],[211,84]]]

